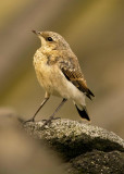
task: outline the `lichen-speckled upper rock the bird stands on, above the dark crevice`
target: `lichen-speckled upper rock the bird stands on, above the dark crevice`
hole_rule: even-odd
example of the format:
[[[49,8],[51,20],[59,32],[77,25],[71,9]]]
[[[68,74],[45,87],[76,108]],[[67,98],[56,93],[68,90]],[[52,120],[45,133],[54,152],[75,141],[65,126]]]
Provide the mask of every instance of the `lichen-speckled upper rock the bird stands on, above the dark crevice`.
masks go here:
[[[50,126],[42,129],[42,123],[29,122],[24,127],[30,135],[46,140],[66,160],[96,149],[100,151],[124,151],[124,140],[103,128],[77,121],[55,120]]]

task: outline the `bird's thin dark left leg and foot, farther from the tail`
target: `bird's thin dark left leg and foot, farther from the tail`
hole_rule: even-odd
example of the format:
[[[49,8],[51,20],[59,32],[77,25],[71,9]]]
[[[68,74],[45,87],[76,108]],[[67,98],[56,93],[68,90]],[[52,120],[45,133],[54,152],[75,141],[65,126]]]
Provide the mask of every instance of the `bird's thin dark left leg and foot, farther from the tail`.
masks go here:
[[[35,122],[35,117],[37,115],[37,113],[40,111],[40,109],[45,105],[45,103],[48,101],[48,99],[50,98],[50,96],[46,92],[45,95],[45,99],[44,101],[41,102],[41,104],[39,105],[39,108],[37,109],[37,111],[35,112],[34,116],[27,121],[25,121],[24,123],[27,123],[27,122]]]

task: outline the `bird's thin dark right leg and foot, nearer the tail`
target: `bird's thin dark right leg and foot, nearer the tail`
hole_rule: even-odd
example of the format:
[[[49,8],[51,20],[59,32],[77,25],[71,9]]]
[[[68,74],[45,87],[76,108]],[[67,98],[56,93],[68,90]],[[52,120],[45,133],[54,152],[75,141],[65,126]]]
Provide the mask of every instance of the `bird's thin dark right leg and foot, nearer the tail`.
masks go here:
[[[57,108],[55,111],[52,113],[52,115],[51,115],[48,120],[46,120],[46,122],[44,123],[42,127],[45,127],[45,125],[47,125],[47,124],[50,124],[52,120],[58,119],[58,117],[54,117],[54,115],[55,115],[55,113],[60,110],[60,108],[65,103],[66,100],[67,100],[67,99],[63,99],[63,100],[61,101],[61,103],[58,105],[58,108]]]

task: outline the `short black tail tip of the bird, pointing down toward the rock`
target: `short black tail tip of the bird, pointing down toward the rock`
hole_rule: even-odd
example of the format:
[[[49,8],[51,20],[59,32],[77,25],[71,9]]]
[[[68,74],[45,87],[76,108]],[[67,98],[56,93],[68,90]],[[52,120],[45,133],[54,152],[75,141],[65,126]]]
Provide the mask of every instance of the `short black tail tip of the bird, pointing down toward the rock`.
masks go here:
[[[86,119],[87,121],[90,121],[87,109],[85,105],[83,105],[83,108],[80,109],[80,107],[78,107],[77,104],[75,104],[80,117]]]

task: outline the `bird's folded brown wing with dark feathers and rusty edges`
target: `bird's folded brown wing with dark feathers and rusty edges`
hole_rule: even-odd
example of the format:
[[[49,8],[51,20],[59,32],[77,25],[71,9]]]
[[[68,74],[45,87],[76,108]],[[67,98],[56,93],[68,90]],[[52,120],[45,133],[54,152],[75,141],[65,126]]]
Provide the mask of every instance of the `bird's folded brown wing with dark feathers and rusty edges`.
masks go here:
[[[80,91],[83,91],[89,99],[91,99],[91,97],[95,97],[95,95],[87,87],[86,80],[84,78],[79,65],[75,66],[73,64],[73,66],[71,66],[70,63],[66,63],[66,65],[61,66],[61,71],[64,74],[64,76]]]

